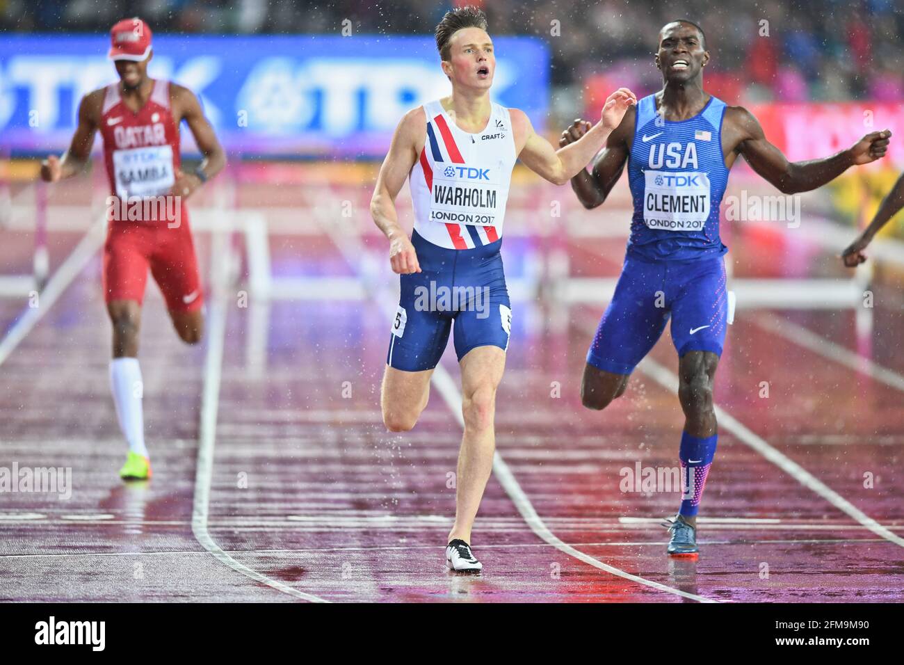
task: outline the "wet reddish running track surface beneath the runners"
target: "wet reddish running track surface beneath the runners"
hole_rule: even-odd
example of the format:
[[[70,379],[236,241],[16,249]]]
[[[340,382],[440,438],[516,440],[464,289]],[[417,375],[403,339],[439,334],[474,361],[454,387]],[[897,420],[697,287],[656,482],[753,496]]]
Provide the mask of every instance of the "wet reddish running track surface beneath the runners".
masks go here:
[[[274,239],[274,264],[304,251],[307,265],[347,274],[328,244],[302,247],[311,245]],[[587,247],[568,249],[579,257]],[[199,251],[206,266],[206,242]],[[587,270],[614,274],[620,256],[603,262]],[[68,500],[0,495],[0,600],[294,600],[224,565],[193,535],[205,347],[178,342],[155,287],[148,290],[140,351],[155,478],[128,486],[118,480],[125,445],[108,394],[109,328],[98,270],[92,262],[0,366],[0,466],[71,467],[73,487]],[[447,474],[455,470],[460,429],[436,391],[413,432],[382,427],[379,384],[392,309],[390,301],[275,303],[266,369],[255,375],[246,353],[254,309],[228,302],[209,515],[210,536],[223,551],[271,580],[331,601],[689,600],[551,546],[532,532],[496,477],[474,531],[485,573],[448,573],[442,546],[454,489]],[[654,519],[673,513],[680,495],[624,493],[619,471],[636,461],[677,464],[683,423],[677,398],[638,371],[605,412],[584,410],[579,377],[602,307],[560,313],[546,302],[522,302],[514,309],[497,449],[561,541],[626,573],[713,600],[904,599],[904,548],[724,426],[702,518],[773,521],[702,521],[699,560],[669,560],[665,530]],[[5,303],[0,316],[8,326],[15,312]],[[904,536],[900,392],[757,325],[762,316],[740,313],[730,328],[718,404]],[[877,362],[904,373],[899,338],[890,333],[900,329],[900,316],[891,296],[877,299],[873,349]],[[853,346],[848,312],[792,318]],[[444,366],[457,378],[454,357],[447,353]],[[667,335],[651,357],[677,366]],[[759,397],[762,381],[770,387],[767,399]],[[553,382],[559,397],[551,396]],[[866,472],[872,489],[864,488]]]

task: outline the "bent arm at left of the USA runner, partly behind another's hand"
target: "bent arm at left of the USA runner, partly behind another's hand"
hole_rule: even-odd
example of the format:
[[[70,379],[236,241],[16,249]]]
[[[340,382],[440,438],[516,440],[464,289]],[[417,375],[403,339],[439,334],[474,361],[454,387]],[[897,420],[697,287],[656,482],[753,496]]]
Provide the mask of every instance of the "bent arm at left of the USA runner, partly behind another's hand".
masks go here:
[[[578,195],[580,204],[588,210],[606,201],[606,197],[625,169],[628,152],[631,149],[627,138],[634,131],[635,115],[634,109],[627,109],[621,124],[606,139],[606,147],[594,161],[592,173],[582,168],[577,176],[571,178],[571,189]],[[590,123],[587,120],[575,120],[570,128],[562,132],[559,145],[567,146],[577,141],[589,131],[589,128]]]

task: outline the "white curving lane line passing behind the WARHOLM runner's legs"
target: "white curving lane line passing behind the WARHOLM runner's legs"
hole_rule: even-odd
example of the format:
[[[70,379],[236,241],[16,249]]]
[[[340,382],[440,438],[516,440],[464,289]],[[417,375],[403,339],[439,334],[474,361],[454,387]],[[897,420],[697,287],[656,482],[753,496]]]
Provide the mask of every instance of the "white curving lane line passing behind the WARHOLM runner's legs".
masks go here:
[[[381,301],[379,298],[379,295],[381,294],[379,294],[378,290],[374,288],[374,282],[372,280],[365,279],[366,276],[362,271],[362,265],[366,270],[366,267],[368,265],[367,260],[370,256],[370,252],[368,252],[367,248],[364,246],[364,243],[361,240],[361,236],[359,236],[354,230],[352,230],[350,231],[350,233],[347,233],[342,237],[337,237],[337,230],[334,226],[330,225],[329,223],[325,223],[323,224],[323,227],[325,229],[325,232],[333,241],[334,245],[343,254],[345,260],[348,261],[348,264],[358,276],[358,279],[361,280],[365,290],[372,294],[372,301]],[[380,309],[379,306],[378,309]],[[385,314],[385,310],[380,309],[380,311]],[[441,364],[438,365],[434,370],[433,375],[430,377],[430,380],[433,385],[436,385],[439,394],[441,394],[443,399],[446,401],[446,404],[452,411],[458,424],[464,429],[465,419],[461,413],[461,394],[458,392],[458,387],[455,384],[455,381],[447,372],[446,368]],[[500,455],[498,451],[496,451],[493,456],[493,472],[496,475],[496,480],[499,480],[499,483],[503,486],[505,493],[508,494],[510,499],[512,499],[515,508],[518,508],[518,512],[521,513],[524,521],[527,523],[528,527],[531,527],[533,533],[538,537],[541,537],[542,540],[549,543],[551,546],[554,546],[561,552],[564,552],[569,556],[573,556],[574,558],[582,561],[585,564],[592,565],[595,568],[599,568],[600,570],[610,573],[611,575],[624,577],[625,579],[631,580],[632,582],[650,586],[659,591],[664,591],[669,594],[677,594],[683,596],[684,598],[700,601],[701,603],[721,602],[711,598],[706,598],[702,595],[689,594],[685,591],[681,591],[680,589],[674,589],[671,586],[666,586],[665,584],[659,584],[658,582],[654,582],[653,580],[647,580],[644,577],[632,575],[624,570],[621,570],[620,568],[616,568],[613,565],[604,564],[602,561],[599,561],[592,556],[586,555],[578,549],[575,549],[574,547],[562,542],[559,537],[556,537],[556,535],[551,532],[549,527],[546,526],[542,518],[537,514],[537,511],[533,508],[531,499],[528,499],[527,495],[524,493],[524,490],[521,489],[521,485],[518,484],[518,480],[515,479],[512,471],[508,468],[508,465],[505,463],[502,455]]]

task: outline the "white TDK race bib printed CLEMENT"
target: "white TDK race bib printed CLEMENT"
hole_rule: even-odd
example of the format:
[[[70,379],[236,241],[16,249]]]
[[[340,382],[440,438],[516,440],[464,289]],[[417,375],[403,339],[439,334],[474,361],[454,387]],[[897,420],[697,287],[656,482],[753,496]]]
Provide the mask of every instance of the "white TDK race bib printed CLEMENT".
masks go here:
[[[710,178],[705,173],[648,170],[644,222],[651,229],[702,231],[710,216]]]

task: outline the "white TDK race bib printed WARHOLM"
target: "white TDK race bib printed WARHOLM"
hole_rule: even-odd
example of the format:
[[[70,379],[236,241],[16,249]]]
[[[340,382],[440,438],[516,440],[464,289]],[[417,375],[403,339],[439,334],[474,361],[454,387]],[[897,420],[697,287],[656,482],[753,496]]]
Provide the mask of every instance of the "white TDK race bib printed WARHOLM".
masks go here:
[[[439,165],[437,165],[439,166]],[[433,173],[430,219],[441,223],[495,226],[505,210],[502,162],[451,164]]]

